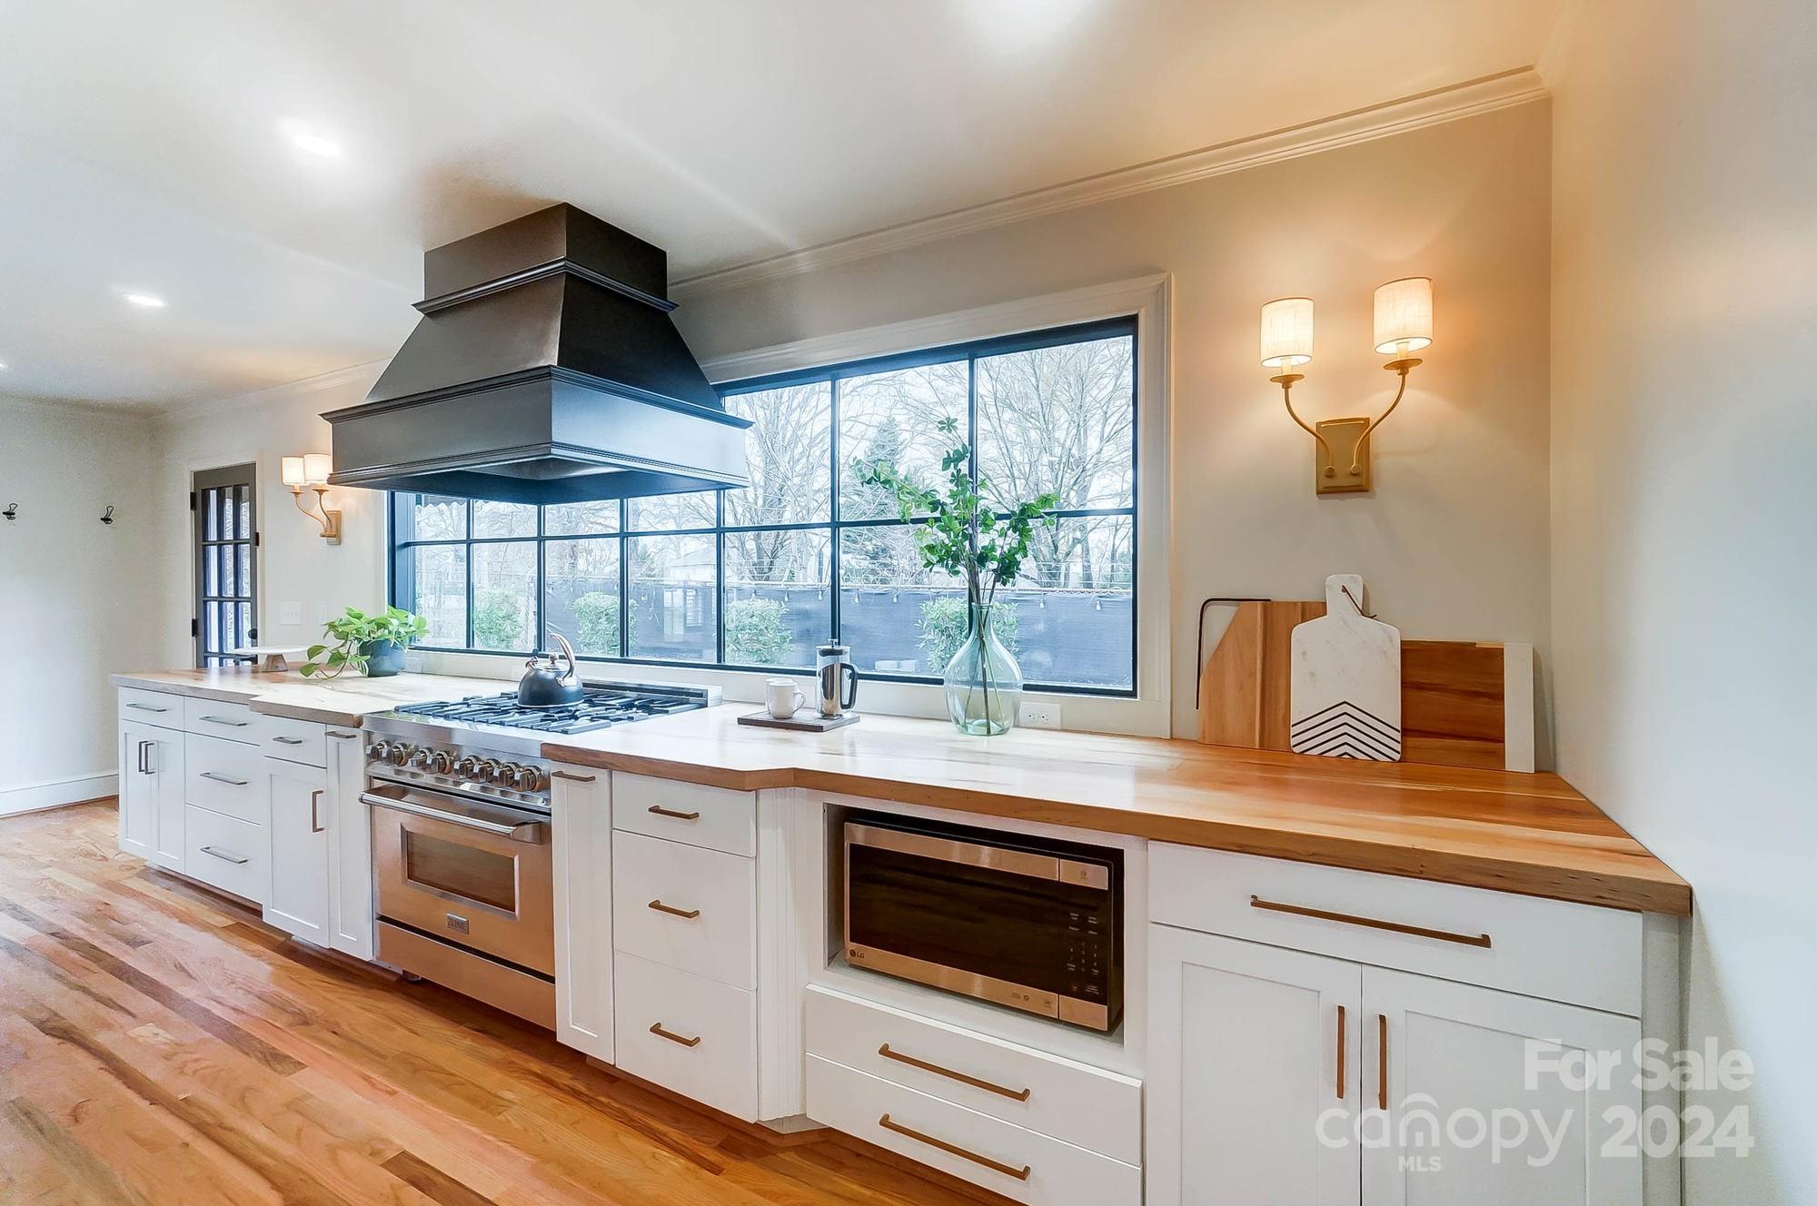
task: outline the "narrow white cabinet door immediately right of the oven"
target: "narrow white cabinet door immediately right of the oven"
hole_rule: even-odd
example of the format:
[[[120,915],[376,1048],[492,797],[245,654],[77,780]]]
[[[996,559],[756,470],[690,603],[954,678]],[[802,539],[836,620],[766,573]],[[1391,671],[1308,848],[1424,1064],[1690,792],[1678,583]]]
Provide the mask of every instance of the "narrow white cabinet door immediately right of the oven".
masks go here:
[[[556,1037],[603,1063],[612,1048],[612,792],[603,770],[556,766]]]

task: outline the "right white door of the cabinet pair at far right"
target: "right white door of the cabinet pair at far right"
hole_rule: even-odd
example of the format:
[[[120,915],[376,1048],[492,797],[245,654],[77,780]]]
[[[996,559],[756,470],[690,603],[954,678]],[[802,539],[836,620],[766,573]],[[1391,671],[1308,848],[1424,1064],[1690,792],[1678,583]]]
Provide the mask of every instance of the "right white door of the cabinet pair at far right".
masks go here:
[[[1639,1019],[1381,968],[1363,1001],[1366,1104],[1388,1110],[1365,1124],[1388,1137],[1363,1144],[1368,1206],[1639,1206],[1644,1161],[1603,1152],[1641,1110]],[[1584,1055],[1617,1063],[1601,1081]]]

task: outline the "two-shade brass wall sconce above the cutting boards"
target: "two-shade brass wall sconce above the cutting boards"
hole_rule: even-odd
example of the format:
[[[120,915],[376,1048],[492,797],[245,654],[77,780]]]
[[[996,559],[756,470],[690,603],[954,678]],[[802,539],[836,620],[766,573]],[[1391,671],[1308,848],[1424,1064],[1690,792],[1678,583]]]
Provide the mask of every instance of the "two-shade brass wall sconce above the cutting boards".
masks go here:
[[[1294,383],[1306,380],[1294,369],[1312,363],[1312,298],[1281,298],[1261,307],[1261,363],[1281,369],[1268,378],[1281,387],[1286,414],[1319,441],[1312,465],[1312,483],[1319,494],[1357,494],[1372,487],[1368,438],[1394,414],[1406,394],[1406,374],[1419,363],[1417,352],[1432,345],[1432,278],[1392,280],[1375,291],[1375,351],[1394,356],[1383,365],[1401,374],[1401,389],[1377,420],[1323,420],[1317,427],[1294,410]]]

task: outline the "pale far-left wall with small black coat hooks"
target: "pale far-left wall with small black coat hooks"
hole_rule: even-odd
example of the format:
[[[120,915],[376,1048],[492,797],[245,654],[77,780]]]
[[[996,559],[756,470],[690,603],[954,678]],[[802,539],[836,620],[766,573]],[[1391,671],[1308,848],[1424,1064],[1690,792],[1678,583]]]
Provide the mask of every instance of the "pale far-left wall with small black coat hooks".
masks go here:
[[[151,423],[0,398],[0,814],[114,790],[107,676],[156,661]],[[114,523],[100,523],[114,509]]]

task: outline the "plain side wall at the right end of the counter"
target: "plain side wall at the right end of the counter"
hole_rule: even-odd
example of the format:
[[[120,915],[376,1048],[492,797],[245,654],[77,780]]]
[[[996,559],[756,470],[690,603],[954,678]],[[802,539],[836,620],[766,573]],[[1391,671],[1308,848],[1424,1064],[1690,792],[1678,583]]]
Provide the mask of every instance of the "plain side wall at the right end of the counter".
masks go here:
[[[1555,87],[1559,768],[1697,895],[1688,1028],[1744,1048],[1744,1161],[1817,1201],[1817,9],[1583,5]]]

